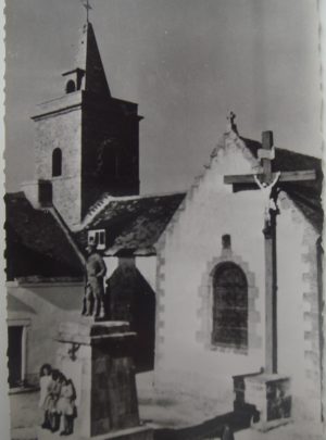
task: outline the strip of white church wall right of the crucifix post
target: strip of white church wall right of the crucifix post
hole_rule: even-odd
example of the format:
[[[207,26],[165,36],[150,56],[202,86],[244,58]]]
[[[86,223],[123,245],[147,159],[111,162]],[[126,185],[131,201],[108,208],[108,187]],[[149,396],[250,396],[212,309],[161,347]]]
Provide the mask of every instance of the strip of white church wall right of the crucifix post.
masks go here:
[[[294,408],[305,418],[321,414],[321,298],[318,235],[286,194],[277,218],[278,365],[292,377]]]

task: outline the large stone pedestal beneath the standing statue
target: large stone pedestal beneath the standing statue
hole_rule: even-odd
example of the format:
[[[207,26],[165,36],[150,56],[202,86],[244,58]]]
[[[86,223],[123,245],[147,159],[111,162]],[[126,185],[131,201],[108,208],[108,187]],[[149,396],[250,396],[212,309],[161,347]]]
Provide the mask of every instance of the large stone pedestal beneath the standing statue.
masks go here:
[[[135,336],[123,322],[83,318],[61,324],[57,367],[76,389],[77,414],[68,438],[152,439],[152,429],[139,423],[130,355]]]

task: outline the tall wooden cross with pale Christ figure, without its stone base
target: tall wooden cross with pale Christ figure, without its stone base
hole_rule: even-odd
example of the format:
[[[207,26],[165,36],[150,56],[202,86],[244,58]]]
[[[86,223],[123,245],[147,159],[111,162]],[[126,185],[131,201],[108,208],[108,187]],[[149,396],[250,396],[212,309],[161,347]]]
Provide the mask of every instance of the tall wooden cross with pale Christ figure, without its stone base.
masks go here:
[[[258,156],[262,172],[253,175],[224,176],[224,183],[234,186],[234,191],[260,189],[265,197],[265,372],[277,373],[277,265],[276,265],[276,215],[279,184],[315,180],[315,169],[273,172],[273,133],[263,131],[262,148]]]

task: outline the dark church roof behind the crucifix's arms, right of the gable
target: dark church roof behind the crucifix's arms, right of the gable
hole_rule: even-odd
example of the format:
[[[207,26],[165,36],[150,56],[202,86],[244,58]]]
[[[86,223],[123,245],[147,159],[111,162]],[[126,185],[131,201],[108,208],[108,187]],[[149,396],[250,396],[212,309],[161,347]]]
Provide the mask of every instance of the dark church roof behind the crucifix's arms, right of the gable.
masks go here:
[[[246,147],[254,158],[258,158],[258,150],[262,144],[258,141],[241,138]],[[322,232],[324,211],[322,205],[323,189],[323,169],[322,161],[308,154],[297,153],[294,151],[275,148],[275,159],[272,162],[272,168],[275,172],[306,171],[315,169],[316,180],[301,181],[293,184],[280,184],[280,188],[287,192],[297,208],[303,213],[305,218]]]

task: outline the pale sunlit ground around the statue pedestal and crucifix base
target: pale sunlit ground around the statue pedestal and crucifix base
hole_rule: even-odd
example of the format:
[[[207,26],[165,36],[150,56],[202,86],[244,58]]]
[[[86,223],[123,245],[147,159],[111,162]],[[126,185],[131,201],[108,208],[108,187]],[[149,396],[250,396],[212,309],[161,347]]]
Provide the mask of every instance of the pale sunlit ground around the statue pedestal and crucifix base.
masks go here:
[[[235,431],[235,440],[323,440],[316,426],[288,424],[268,432],[248,429],[249,419],[210,401],[200,402],[186,395],[178,400],[152,391],[152,375],[138,377],[139,413],[142,420],[155,428],[154,440],[213,440],[221,438],[224,424]],[[36,440],[41,423],[38,392],[11,395],[12,439]],[[216,414],[220,414],[216,416]],[[1,437],[1,436],[0,436]],[[54,436],[53,436],[54,437]]]

